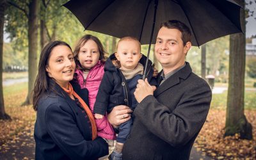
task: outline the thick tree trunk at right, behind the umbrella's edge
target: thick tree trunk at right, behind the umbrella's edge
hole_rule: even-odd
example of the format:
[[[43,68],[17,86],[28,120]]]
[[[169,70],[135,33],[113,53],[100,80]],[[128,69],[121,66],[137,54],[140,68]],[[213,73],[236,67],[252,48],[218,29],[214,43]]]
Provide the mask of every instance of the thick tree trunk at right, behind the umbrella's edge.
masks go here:
[[[237,1],[244,7],[244,0]],[[244,10],[241,13],[241,25],[245,33]],[[244,116],[244,70],[245,35],[230,35],[230,54],[228,70],[228,100],[225,136],[240,134],[241,139],[252,140],[252,125]]]

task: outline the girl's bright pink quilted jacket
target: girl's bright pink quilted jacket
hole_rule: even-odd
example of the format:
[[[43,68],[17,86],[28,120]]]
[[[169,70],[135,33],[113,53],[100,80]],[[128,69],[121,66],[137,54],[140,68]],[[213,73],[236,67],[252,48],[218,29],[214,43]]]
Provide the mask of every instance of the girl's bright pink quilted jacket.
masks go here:
[[[81,88],[87,88],[89,91],[89,105],[93,113],[93,106],[95,104],[96,96],[99,90],[100,82],[104,75],[104,61],[98,61],[98,63],[91,68],[86,81],[84,81],[83,71],[76,69],[74,78],[77,80]],[[97,135],[106,138],[108,140],[115,140],[115,132],[113,127],[109,124],[106,115],[102,119],[95,119],[97,125]]]

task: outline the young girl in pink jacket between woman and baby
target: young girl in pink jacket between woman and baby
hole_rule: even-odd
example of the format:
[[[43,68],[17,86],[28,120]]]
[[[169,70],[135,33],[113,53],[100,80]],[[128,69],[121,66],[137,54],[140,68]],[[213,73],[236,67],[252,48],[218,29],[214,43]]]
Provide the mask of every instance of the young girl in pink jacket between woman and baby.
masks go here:
[[[100,40],[92,35],[84,35],[74,49],[74,59],[76,61],[74,81],[81,88],[88,89],[89,104],[92,113],[100,82],[104,75],[105,54],[106,51]],[[95,121],[98,136],[106,140],[115,140],[115,132],[106,119],[106,116]],[[113,141],[108,141],[108,143],[110,146],[113,145]]]

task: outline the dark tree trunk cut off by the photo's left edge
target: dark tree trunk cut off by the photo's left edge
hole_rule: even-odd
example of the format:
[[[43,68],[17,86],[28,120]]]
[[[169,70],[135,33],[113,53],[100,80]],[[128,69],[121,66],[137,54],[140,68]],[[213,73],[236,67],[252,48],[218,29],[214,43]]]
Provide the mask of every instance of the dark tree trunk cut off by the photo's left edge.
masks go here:
[[[3,94],[3,35],[4,35],[4,9],[6,1],[0,2],[0,119],[10,119],[10,116],[5,113],[4,109],[4,94]]]

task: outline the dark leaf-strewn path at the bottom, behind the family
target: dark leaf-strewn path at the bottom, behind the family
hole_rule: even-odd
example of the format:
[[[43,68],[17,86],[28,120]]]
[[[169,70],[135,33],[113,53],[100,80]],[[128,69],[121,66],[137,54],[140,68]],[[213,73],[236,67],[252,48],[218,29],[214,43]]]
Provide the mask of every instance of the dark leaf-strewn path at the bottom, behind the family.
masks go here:
[[[13,140],[8,140],[0,145],[0,159],[35,159],[35,141],[33,138],[33,129],[20,132]],[[107,156],[100,160],[108,159]],[[190,155],[191,160],[211,160],[211,157],[202,156],[202,152],[197,152],[193,147]]]

